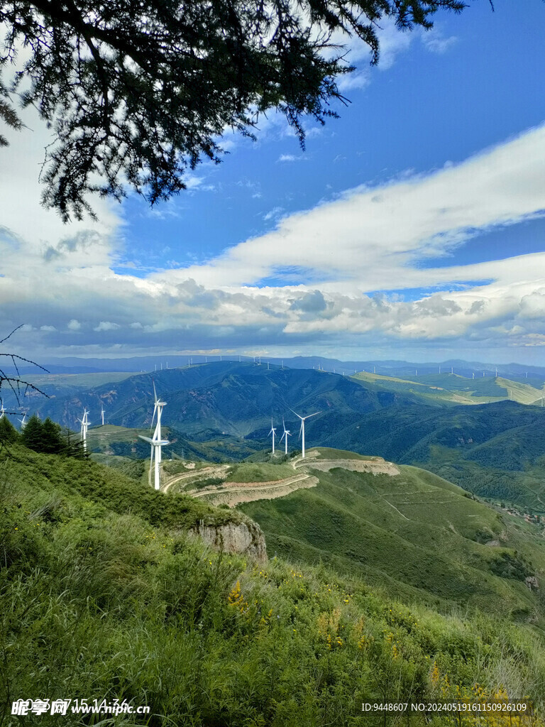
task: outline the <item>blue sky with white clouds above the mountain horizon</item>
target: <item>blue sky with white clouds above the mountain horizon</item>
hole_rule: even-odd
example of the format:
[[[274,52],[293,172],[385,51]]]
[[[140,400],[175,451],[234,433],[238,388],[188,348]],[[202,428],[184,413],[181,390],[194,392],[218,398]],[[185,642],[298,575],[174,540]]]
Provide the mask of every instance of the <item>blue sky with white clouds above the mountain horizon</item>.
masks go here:
[[[58,356],[241,353],[545,365],[545,4],[475,0],[432,31],[347,39],[340,119],[227,134],[150,208],[41,207],[50,140],[0,148],[0,333]],[[0,335],[0,338],[2,336]]]

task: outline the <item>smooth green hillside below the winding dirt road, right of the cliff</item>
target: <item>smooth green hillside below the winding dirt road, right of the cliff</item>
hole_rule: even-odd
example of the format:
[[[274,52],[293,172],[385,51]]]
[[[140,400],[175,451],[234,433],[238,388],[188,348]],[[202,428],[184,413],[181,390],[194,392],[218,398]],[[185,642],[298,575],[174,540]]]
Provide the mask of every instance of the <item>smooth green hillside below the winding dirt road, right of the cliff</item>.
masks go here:
[[[331,450],[318,451],[331,458]],[[525,585],[527,577],[545,575],[537,526],[416,467],[402,466],[397,476],[323,472],[312,462],[307,469],[318,486],[239,506],[262,526],[269,553],[334,563],[401,597],[464,603],[544,625],[541,598]]]

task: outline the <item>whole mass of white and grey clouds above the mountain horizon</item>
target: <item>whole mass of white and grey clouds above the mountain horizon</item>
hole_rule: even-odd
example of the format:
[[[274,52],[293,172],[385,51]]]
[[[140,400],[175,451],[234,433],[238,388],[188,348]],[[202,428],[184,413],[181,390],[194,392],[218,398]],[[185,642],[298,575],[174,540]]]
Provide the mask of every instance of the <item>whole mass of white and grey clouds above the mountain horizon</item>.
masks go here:
[[[47,135],[31,137],[23,161],[17,145],[2,151],[12,174],[0,180],[2,333],[27,324],[17,348],[128,356],[410,346],[523,359],[514,349],[545,345],[545,252],[471,264],[459,255],[482,233],[544,216],[545,126],[461,164],[346,190],[205,264],[143,276],[114,272],[130,244],[122,208],[95,201],[100,222],[69,227],[41,209]]]

